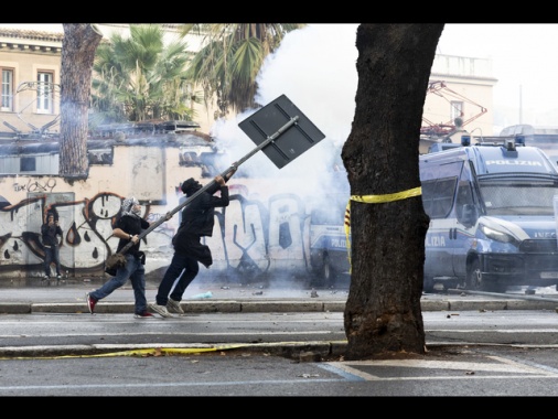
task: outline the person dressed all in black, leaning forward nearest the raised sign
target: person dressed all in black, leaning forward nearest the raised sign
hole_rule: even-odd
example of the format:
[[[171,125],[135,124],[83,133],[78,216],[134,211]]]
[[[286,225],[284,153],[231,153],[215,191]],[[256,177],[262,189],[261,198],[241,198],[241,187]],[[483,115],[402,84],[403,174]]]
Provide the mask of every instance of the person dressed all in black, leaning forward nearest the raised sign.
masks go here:
[[[210,247],[203,245],[201,240],[202,237],[211,237],[213,234],[215,207],[228,206],[228,186],[225,183],[233,174],[234,171],[229,172],[226,179],[221,175],[215,176],[215,184],[207,187],[182,210],[182,223],[172,238],[174,255],[159,284],[155,302],[149,304],[151,312],[163,318],[172,318],[171,313],[184,314],[180,302],[187,286],[200,271],[198,264],[206,268],[213,264]],[[193,178],[185,180],[181,185],[182,192],[189,198],[202,187]],[[214,196],[217,191],[221,191],[221,196]],[[176,278],[179,278],[178,281]]]

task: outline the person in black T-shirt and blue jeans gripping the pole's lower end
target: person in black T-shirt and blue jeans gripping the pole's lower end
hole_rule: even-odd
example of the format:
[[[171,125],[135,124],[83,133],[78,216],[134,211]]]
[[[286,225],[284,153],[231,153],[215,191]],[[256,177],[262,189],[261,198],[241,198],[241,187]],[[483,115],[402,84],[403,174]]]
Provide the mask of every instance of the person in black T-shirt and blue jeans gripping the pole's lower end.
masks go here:
[[[171,216],[167,214],[165,219],[169,221],[170,218]],[[136,319],[153,318],[148,311],[146,299],[146,268],[143,267],[146,265],[146,255],[143,251],[140,251],[139,238],[141,232],[147,229],[149,225],[149,222],[141,217],[141,204],[139,201],[133,196],[124,200],[121,216],[115,225],[112,236],[120,239],[117,251],[120,251],[129,241],[133,243],[133,246],[124,255],[126,265],[117,269],[116,276],[105,282],[99,289],[85,294],[89,313],[94,314],[97,302],[122,287],[128,278],[130,278],[136,300],[133,316]]]

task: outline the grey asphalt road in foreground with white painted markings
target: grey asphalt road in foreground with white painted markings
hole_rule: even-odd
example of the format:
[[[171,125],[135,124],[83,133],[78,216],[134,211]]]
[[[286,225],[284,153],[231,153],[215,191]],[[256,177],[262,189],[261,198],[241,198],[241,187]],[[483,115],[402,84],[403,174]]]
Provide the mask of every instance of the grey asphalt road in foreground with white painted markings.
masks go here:
[[[550,348],[459,347],[406,359],[362,362],[298,362],[250,352],[0,359],[0,397],[8,396],[15,397],[13,401],[20,407],[23,401],[20,397],[30,396],[143,397],[128,400],[136,408],[142,402],[148,407],[154,396],[319,396],[320,400],[312,401],[321,408],[336,402],[333,400],[336,397],[374,397],[371,401],[375,408],[383,404],[393,408],[396,401],[393,397],[401,396],[505,396],[502,408],[511,409],[514,401],[526,401],[511,396],[558,396],[558,357],[556,350]],[[37,406],[49,407],[49,401],[54,407],[61,400],[40,400]],[[223,406],[234,408],[230,401]],[[257,408],[250,401],[242,400],[243,407]],[[439,408],[432,401],[425,400],[423,408]],[[440,401],[457,401],[453,408],[477,410],[465,399]],[[540,406],[540,401],[534,406]],[[412,406],[422,408],[422,402],[414,399]],[[203,408],[215,410],[206,404]]]

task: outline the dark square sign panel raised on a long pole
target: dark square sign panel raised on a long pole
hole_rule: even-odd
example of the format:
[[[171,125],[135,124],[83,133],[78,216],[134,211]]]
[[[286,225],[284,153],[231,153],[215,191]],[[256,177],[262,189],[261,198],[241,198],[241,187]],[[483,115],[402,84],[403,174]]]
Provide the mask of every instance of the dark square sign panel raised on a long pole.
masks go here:
[[[261,149],[269,160],[281,169],[325,138],[287,96],[279,96],[238,123],[238,127],[259,146],[297,117],[294,123]]]

